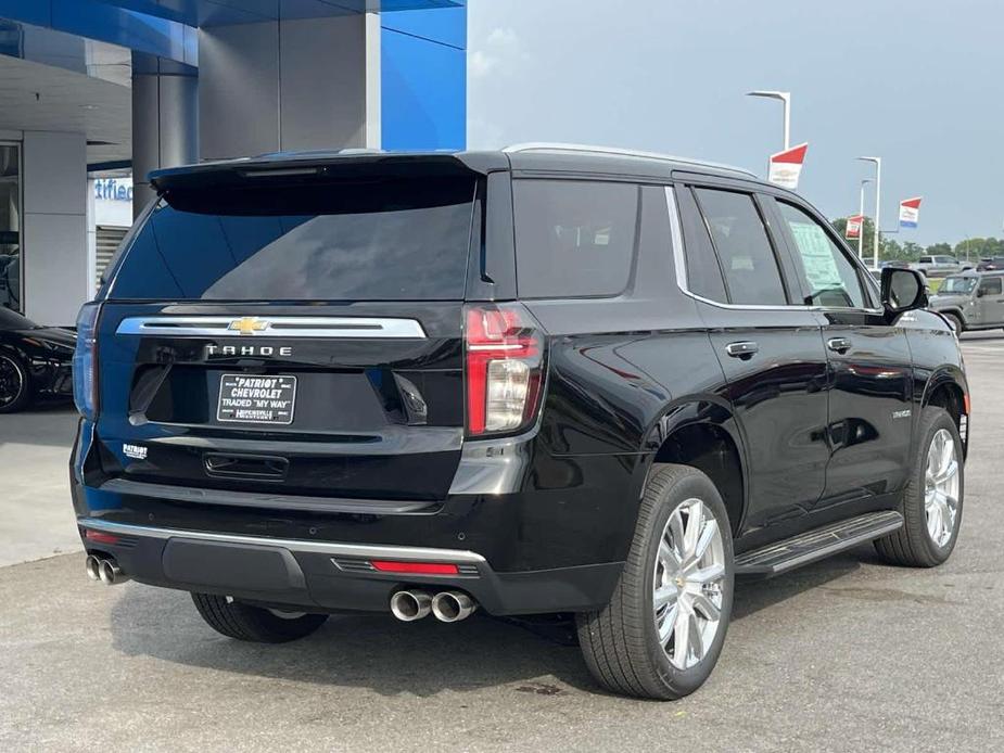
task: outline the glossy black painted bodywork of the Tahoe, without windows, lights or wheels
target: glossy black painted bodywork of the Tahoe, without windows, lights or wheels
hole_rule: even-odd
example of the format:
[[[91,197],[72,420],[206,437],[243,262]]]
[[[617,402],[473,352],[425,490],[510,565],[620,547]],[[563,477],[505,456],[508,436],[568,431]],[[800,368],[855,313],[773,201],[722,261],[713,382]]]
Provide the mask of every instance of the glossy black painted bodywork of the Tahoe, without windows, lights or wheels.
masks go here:
[[[683,454],[721,474],[713,480],[727,490],[742,556],[897,510],[923,406],[944,405],[948,394],[967,420],[962,358],[944,320],[802,305],[792,251],[767,197],[816,215],[751,176],[595,154],[300,155],[167,170],[154,184],[233,187],[285,168],[310,173],[297,178],[301,188],[341,170],[476,176],[466,293],[456,301],[137,302],[110,293],[113,272],[101,295],[99,416],[80,422],[73,495],[84,526],[151,529],[117,544],[86,539],[88,550],[115,557],[142,583],[318,610],[386,611],[394,589],[429,583],[466,590],[498,614],[595,609],[627,557],[653,462]],[[522,179],[637,187],[623,292],[521,298],[512,181]],[[729,305],[689,292],[691,237],[681,232],[677,213],[699,207],[677,207],[674,186],[753,196],[786,299]],[[700,230],[704,220],[696,219],[688,231]],[[568,228],[554,230],[568,241]],[[590,253],[611,233],[594,232]],[[539,409],[516,436],[475,438],[467,431],[465,306],[513,301],[542,333]],[[410,320],[423,336],[117,333],[137,318],[305,316]],[[838,353],[828,347],[833,339],[849,345]],[[242,353],[247,343],[259,349]],[[752,350],[730,348],[749,343]],[[262,353],[266,346],[272,349]],[[220,379],[233,373],[295,376],[292,423],[220,421]],[[679,436],[715,445],[688,438],[681,447]],[[846,533],[835,536],[856,540]],[[206,544],[206,536],[221,538]],[[321,545],[481,559],[476,575],[405,579],[341,569],[317,552]]]

